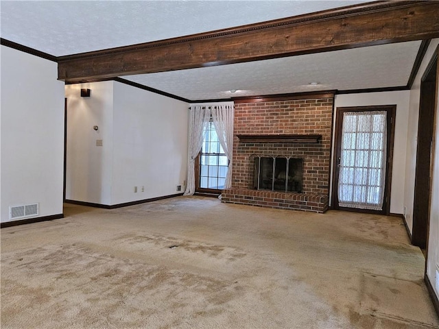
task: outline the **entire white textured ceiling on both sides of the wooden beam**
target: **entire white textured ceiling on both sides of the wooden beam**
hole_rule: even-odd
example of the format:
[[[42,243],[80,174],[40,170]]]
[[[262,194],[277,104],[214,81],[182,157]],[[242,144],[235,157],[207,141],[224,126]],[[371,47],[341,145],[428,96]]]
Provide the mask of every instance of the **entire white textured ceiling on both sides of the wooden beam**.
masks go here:
[[[1,0],[0,34],[65,56],[364,2]],[[191,100],[404,86],[419,45],[403,42],[123,78]]]

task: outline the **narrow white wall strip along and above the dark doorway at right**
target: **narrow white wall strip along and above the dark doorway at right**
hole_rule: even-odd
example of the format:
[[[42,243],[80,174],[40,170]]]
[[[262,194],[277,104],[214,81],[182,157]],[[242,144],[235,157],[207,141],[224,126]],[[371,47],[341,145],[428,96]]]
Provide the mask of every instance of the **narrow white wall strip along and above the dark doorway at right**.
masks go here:
[[[418,145],[418,117],[420,101],[420,79],[422,78],[427,65],[431,60],[439,39],[431,40],[425,53],[423,62],[420,64],[418,74],[415,77],[412,89],[410,90],[409,122],[407,125],[407,161],[405,163],[405,194],[404,204],[406,207],[405,221],[412,232],[413,228],[413,206],[414,206],[414,179],[416,173],[416,149]]]

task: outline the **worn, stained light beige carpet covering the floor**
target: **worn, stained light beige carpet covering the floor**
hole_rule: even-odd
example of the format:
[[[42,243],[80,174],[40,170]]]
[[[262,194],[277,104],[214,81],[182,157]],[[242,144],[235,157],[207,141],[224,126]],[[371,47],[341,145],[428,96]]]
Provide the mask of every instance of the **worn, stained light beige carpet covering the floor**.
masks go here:
[[[176,197],[1,229],[1,328],[439,328],[401,219]]]

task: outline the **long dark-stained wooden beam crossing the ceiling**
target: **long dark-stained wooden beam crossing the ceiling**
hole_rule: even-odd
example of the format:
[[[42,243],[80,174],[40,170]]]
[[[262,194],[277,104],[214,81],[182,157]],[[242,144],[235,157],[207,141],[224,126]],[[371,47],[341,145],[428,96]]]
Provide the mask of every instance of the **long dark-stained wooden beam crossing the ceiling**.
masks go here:
[[[439,37],[439,1],[377,1],[58,58],[69,83]]]

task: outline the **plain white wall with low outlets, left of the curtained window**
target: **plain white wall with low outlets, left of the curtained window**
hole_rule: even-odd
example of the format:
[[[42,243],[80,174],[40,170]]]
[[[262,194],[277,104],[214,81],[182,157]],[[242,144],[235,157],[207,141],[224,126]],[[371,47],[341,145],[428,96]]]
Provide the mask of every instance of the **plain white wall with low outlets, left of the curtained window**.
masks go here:
[[[113,204],[180,193],[176,185],[187,176],[188,106],[115,82]]]

